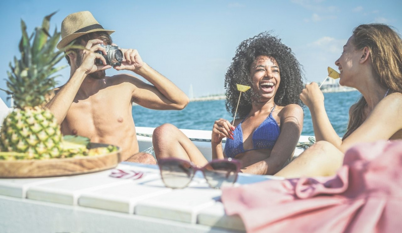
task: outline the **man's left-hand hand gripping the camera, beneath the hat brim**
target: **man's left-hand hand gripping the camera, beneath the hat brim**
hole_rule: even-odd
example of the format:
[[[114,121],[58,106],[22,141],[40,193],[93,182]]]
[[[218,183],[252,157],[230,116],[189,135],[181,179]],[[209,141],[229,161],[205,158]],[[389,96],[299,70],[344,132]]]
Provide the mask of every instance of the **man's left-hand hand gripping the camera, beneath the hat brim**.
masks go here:
[[[98,39],[90,40],[88,43],[86,43],[85,49],[82,50],[82,60],[78,67],[79,69],[82,69],[86,74],[90,74],[112,67],[110,65],[106,65],[106,59],[102,56],[102,54],[95,53],[95,51],[102,51],[103,54],[107,54],[106,49],[99,45],[103,43],[103,41]],[[95,59],[100,59],[104,65],[95,65]]]

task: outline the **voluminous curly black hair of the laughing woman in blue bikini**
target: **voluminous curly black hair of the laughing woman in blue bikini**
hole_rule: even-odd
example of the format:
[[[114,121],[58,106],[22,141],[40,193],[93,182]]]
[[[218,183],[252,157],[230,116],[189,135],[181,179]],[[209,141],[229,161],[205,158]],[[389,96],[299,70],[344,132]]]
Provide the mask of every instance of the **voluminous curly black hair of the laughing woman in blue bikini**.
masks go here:
[[[250,91],[242,93],[237,115],[245,118],[252,104],[258,102],[259,96],[253,91],[250,76],[251,64],[258,56],[273,57],[279,66],[280,84],[276,91],[274,102],[280,106],[295,103],[303,106],[299,94],[303,90],[302,65],[297,61],[291,49],[280,42],[275,36],[263,32],[243,41],[236,50],[232,64],[225,75],[226,109],[233,115],[236,111],[240,92],[236,84],[251,86]]]

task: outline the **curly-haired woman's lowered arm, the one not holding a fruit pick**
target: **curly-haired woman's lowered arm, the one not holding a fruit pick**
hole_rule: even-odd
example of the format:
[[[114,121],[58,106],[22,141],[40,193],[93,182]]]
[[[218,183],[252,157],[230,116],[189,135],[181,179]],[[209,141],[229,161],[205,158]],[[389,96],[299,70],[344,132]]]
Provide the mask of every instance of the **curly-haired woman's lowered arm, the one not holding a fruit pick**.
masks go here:
[[[273,175],[291,158],[303,129],[303,108],[297,104],[286,105],[280,112],[280,134],[271,155],[260,162],[245,167],[242,172]]]

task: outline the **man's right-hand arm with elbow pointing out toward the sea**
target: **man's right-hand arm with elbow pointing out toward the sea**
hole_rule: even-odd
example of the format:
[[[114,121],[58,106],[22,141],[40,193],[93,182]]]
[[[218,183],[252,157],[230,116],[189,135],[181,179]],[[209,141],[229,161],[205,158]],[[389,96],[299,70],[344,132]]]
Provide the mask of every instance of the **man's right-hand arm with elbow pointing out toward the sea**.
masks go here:
[[[137,50],[122,49],[124,61],[115,66],[116,70],[131,70],[144,77],[152,85],[136,82],[133,90],[134,102],[152,109],[183,109],[189,102],[184,94],[173,82],[151,68],[142,61]]]

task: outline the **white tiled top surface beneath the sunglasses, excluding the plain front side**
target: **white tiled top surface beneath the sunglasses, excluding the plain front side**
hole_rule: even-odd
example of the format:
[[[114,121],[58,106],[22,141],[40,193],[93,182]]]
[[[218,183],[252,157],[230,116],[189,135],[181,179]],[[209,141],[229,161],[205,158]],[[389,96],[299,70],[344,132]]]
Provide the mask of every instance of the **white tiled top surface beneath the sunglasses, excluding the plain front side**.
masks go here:
[[[56,178],[0,179],[0,195],[24,199],[26,196],[26,203],[42,202],[47,206],[54,205],[55,209],[70,206],[94,213],[120,212],[159,221],[244,230],[238,216],[225,214],[223,204],[219,202],[222,191],[209,188],[200,172],[189,187],[170,189],[164,187],[157,166],[121,163],[117,168],[141,171],[144,176],[140,179],[114,178],[110,177],[111,170],[108,170]],[[240,174],[236,185],[269,179],[277,178]]]

